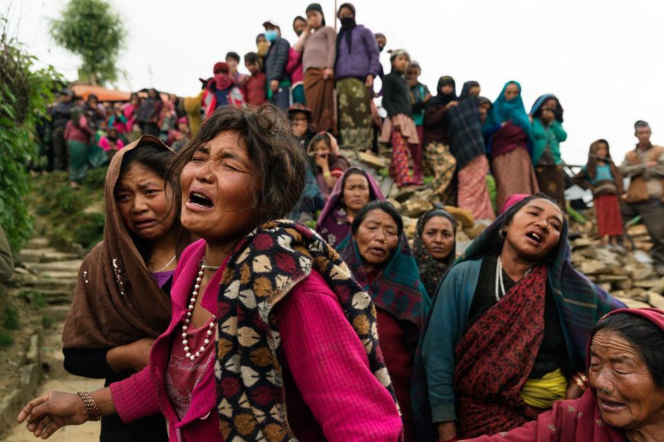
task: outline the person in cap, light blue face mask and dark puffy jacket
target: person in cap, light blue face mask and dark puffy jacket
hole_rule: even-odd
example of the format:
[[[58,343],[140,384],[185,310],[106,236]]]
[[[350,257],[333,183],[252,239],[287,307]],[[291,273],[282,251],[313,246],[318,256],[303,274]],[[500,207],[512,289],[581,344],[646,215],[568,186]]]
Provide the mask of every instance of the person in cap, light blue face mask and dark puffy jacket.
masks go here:
[[[265,75],[268,79],[268,99],[275,106],[286,111],[291,105],[291,79],[286,74],[288,49],[291,44],[282,38],[279,26],[273,21],[263,23],[265,38],[270,42],[268,55],[265,57]]]

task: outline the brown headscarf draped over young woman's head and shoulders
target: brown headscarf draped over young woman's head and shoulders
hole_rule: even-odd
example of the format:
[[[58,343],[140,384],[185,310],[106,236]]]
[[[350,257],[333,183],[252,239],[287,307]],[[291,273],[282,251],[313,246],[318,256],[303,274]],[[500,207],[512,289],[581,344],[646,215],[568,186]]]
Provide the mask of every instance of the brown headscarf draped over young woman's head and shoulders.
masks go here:
[[[113,194],[122,158],[145,145],[175,155],[158,138],[143,135],[113,156],[104,186],[104,240],[88,253],[78,271],[74,300],[62,332],[64,348],[106,349],[157,338],[170,323],[171,301],[145,266]],[[183,229],[176,247],[178,256],[189,243],[190,233]]]

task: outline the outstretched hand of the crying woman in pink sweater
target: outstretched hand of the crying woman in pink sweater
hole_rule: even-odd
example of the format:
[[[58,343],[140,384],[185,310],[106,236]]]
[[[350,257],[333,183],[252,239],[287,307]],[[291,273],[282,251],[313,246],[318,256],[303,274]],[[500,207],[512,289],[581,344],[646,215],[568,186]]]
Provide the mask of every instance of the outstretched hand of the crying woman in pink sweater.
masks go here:
[[[28,430],[47,439],[64,425],[80,425],[89,419],[88,410],[77,394],[50,392],[33,399],[17,416],[17,423],[28,421]]]

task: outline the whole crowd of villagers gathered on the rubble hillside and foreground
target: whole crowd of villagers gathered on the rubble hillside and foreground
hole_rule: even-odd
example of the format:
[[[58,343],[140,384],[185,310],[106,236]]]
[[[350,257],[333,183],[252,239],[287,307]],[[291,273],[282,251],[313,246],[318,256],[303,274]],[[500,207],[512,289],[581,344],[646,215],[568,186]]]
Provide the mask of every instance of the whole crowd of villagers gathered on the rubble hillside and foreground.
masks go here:
[[[101,441],[658,440],[664,311],[627,309],[571,265],[556,97],[528,114],[516,81],[490,102],[451,77],[432,96],[405,50],[382,73],[385,37],[350,3],[337,18],[338,34],[312,3],[293,47],[266,21],[251,75],[230,53],[194,99],[150,90],[102,117],[88,97],[66,119],[72,182],[93,124],[109,165],[64,367],[106,382],[35,398],[18,421],[48,438],[101,420]],[[431,175],[441,201],[487,220],[460,256],[452,214],[421,215],[410,243],[340,155],[374,139],[397,186]],[[578,177],[593,190],[622,182],[608,149],[593,143]],[[621,193],[598,193],[605,210]]]

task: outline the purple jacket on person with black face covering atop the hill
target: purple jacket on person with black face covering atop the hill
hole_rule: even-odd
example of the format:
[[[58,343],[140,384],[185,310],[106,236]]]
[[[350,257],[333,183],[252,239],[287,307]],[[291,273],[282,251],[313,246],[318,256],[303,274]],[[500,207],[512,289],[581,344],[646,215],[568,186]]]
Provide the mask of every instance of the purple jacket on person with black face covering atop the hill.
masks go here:
[[[378,60],[378,44],[374,32],[362,25],[351,31],[352,49],[348,50],[346,39],[337,41],[337,63],[334,66],[335,79],[355,77],[364,79],[367,75],[378,77],[380,61]]]

